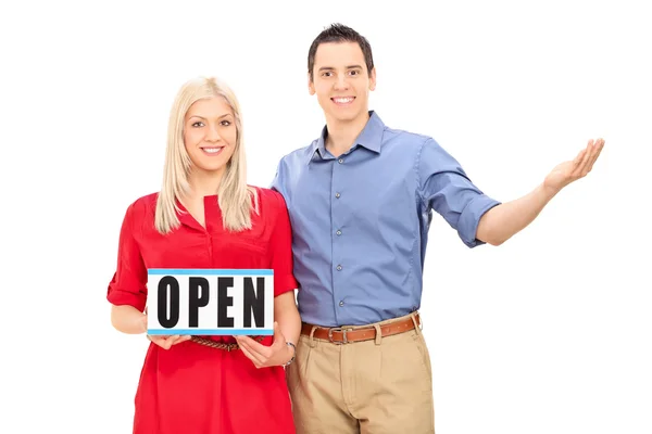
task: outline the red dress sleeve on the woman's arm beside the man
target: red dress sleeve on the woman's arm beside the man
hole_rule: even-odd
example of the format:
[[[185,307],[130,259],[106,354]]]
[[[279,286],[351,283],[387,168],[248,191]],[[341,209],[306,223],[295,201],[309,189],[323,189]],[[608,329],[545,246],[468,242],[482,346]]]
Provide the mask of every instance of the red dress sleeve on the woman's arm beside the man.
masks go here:
[[[293,275],[292,230],[286,202],[278,192],[272,192],[275,214],[269,239],[272,268],[274,270],[274,296],[299,288]]]

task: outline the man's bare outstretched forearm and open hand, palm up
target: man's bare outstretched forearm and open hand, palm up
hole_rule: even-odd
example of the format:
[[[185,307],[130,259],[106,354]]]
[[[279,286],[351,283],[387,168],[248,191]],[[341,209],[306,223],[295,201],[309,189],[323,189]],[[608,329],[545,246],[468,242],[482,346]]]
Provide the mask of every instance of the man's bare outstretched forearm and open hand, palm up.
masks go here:
[[[476,238],[500,245],[525,229],[564,187],[591,171],[603,148],[603,139],[589,140],[575,159],[557,165],[534,191],[486,212],[478,222]]]

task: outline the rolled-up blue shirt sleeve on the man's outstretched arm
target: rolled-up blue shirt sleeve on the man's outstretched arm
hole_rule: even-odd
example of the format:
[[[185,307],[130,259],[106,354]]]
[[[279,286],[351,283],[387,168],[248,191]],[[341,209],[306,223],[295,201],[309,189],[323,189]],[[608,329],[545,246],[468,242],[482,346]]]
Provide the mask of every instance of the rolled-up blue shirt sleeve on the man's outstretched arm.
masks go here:
[[[440,214],[468,247],[485,244],[476,238],[478,224],[500,202],[474,186],[460,163],[432,139],[423,144],[417,170],[428,210]]]

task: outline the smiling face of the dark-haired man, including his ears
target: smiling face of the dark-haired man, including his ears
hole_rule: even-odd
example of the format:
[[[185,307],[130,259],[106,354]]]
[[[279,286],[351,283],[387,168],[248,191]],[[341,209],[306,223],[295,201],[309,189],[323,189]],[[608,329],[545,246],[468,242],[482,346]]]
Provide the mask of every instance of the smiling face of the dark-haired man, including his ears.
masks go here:
[[[376,88],[376,71],[369,76],[356,42],[328,42],[317,47],[310,94],[317,95],[326,120],[351,122],[367,116],[369,90]]]

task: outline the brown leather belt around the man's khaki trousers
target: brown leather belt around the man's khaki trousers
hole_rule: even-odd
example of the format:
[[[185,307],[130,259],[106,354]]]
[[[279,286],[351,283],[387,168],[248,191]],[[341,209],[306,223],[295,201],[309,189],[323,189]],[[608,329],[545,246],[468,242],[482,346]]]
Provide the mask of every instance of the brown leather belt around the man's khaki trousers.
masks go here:
[[[416,320],[417,326],[421,327],[421,317],[418,314],[414,315],[414,319]],[[380,336],[386,337],[391,336],[392,334],[405,333],[410,330],[414,330],[414,321],[412,321],[412,317],[405,317],[404,319],[379,327]],[[301,334],[310,336],[313,328],[315,329],[313,337],[328,341],[334,344],[349,344],[351,342],[371,341],[376,339],[376,328],[374,326],[360,329],[341,327],[325,328],[303,322]]]

